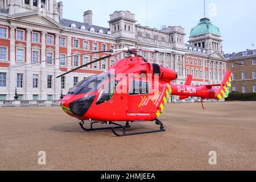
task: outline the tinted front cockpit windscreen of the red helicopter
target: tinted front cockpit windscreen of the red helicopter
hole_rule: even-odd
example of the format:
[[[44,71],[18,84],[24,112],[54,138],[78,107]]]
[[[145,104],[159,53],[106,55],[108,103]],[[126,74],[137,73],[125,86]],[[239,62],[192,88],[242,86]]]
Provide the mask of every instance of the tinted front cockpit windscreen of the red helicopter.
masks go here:
[[[102,73],[100,75],[94,75],[82,80],[73,89],[69,91],[68,94],[77,95],[83,93],[95,92],[101,88],[105,81],[109,78],[114,77],[110,73]]]

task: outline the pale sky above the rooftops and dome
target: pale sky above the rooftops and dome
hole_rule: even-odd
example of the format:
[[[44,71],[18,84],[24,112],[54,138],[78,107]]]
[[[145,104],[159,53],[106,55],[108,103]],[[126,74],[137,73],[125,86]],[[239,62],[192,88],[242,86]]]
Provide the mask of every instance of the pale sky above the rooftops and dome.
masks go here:
[[[187,34],[204,16],[203,0],[62,0],[63,16],[83,22],[83,13],[93,11],[93,24],[109,27],[109,15],[114,11],[129,10],[137,23],[146,26],[146,1],[148,1],[148,26],[182,26]],[[256,49],[256,1],[255,0],[206,0],[206,15],[220,28],[225,53]],[[209,7],[216,5],[216,11]],[[216,16],[209,15],[216,13]],[[251,44],[254,44],[253,47]]]

